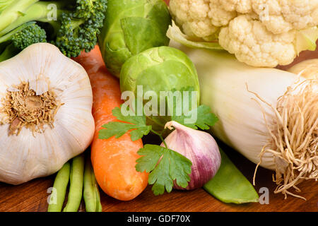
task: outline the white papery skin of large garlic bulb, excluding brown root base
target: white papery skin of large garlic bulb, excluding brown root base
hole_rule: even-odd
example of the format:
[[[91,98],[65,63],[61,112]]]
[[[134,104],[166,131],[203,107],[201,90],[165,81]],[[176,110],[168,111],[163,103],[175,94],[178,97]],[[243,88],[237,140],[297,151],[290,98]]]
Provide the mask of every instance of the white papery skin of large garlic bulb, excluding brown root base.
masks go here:
[[[28,82],[37,95],[51,90],[64,105],[57,109],[54,127],[44,125],[44,132],[34,136],[25,127],[9,135],[10,125],[0,124],[0,182],[8,184],[54,174],[88,148],[95,130],[88,74],[54,45],[33,44],[0,63],[0,100],[21,82]],[[4,117],[1,113],[0,120]]]

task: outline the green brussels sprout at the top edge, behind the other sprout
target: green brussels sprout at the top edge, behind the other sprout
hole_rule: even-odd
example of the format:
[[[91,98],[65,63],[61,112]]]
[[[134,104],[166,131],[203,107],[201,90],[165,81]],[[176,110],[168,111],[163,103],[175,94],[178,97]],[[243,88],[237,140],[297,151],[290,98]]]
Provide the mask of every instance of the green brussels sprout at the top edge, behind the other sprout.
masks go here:
[[[122,64],[131,56],[168,45],[166,32],[171,23],[163,0],[108,0],[98,40],[110,73],[119,77]]]

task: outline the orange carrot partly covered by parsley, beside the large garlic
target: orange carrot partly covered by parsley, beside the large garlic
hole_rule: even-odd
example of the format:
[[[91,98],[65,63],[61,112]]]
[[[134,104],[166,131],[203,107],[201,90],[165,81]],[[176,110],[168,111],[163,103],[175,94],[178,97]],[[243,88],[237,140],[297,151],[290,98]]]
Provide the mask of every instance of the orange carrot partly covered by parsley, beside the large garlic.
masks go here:
[[[119,81],[107,71],[98,46],[74,60],[86,69],[93,89],[95,135],[91,160],[96,180],[107,195],[129,201],[141,194],[148,184],[148,174],[135,169],[136,160],[140,157],[137,151],[143,148],[143,143],[141,139],[131,141],[129,133],[120,138],[98,138],[102,125],[117,121],[112,109],[123,103]]]

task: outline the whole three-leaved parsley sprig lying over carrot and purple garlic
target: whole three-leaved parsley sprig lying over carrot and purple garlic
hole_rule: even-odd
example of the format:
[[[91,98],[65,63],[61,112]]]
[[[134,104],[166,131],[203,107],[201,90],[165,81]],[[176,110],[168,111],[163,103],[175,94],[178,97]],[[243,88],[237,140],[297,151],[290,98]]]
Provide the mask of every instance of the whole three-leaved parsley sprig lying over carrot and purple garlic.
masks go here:
[[[192,90],[192,88],[186,88],[184,90]],[[182,95],[176,96],[176,102],[182,99]],[[138,106],[140,103],[134,102],[133,106]],[[174,102],[173,105],[168,106],[173,112],[176,112],[179,106]],[[142,105],[141,105],[142,106]],[[122,107],[128,109],[129,114],[122,114]],[[196,112],[194,112],[196,111]],[[125,133],[130,133],[131,140],[136,141],[148,133],[155,133],[163,141],[165,146],[146,144],[138,151],[141,155],[136,160],[136,171],[138,172],[150,172],[148,177],[148,184],[153,184],[152,191],[155,195],[163,194],[165,191],[170,193],[174,182],[186,188],[191,174],[192,162],[183,155],[180,155],[175,150],[171,150],[167,147],[163,136],[154,131],[151,125],[146,124],[146,115],[143,113],[141,116],[134,114],[134,109],[130,109],[126,105],[122,105],[120,108],[116,107],[112,110],[112,114],[119,121],[111,121],[108,124],[103,125],[104,129],[100,130],[99,138],[107,139],[115,136],[119,138]],[[190,124],[185,124],[185,119],[191,119],[193,114],[196,114],[196,121]],[[172,121],[177,121],[179,124],[189,126],[192,129],[209,129],[209,126],[218,121],[217,117],[211,113],[210,107],[201,105],[197,109],[192,109],[189,112],[182,112],[181,115],[175,116],[172,114]]]

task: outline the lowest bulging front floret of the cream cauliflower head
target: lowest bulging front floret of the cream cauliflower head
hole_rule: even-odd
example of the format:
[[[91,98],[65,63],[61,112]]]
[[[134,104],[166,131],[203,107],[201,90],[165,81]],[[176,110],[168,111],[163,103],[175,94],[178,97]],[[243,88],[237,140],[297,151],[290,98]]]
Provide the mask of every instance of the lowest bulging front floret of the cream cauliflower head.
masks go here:
[[[222,28],[220,46],[251,66],[275,67],[290,64],[297,56],[294,48],[295,30],[274,35],[259,20],[240,15]]]

